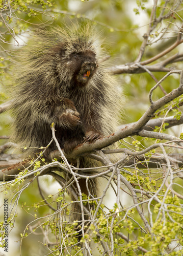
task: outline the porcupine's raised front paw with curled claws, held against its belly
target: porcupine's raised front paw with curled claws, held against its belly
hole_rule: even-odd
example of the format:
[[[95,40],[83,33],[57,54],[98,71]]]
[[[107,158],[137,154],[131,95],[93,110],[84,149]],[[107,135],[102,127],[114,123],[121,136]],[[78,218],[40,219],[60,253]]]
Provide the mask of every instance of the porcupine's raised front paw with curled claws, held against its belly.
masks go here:
[[[80,114],[76,110],[72,109],[66,109],[59,117],[59,121],[63,126],[71,129],[82,123],[80,121]]]

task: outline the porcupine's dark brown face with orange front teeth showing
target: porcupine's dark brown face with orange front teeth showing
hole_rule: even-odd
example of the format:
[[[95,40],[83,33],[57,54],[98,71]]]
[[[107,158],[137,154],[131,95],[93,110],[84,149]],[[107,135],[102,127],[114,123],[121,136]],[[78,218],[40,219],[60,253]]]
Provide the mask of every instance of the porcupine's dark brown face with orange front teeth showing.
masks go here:
[[[92,51],[72,53],[73,78],[79,87],[85,87],[97,68],[95,53]]]

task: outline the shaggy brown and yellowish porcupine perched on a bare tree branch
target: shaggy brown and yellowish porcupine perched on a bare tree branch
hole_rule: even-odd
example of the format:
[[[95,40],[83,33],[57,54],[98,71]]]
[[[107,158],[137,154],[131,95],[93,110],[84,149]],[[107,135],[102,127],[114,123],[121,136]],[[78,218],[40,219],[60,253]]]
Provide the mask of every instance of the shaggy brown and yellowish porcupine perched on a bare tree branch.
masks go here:
[[[34,155],[56,138],[69,154],[84,142],[92,142],[117,129],[120,107],[116,80],[102,61],[98,37],[90,25],[39,30],[21,50],[16,64],[11,106],[14,141]],[[51,143],[50,151],[57,150]],[[47,153],[47,154],[48,154]],[[80,158],[80,167],[96,167],[95,160]],[[89,180],[90,181],[90,180]],[[79,180],[88,194],[86,180]],[[97,195],[97,180],[88,188]],[[79,204],[73,204],[71,220],[81,220]],[[86,217],[87,219],[87,217]]]

